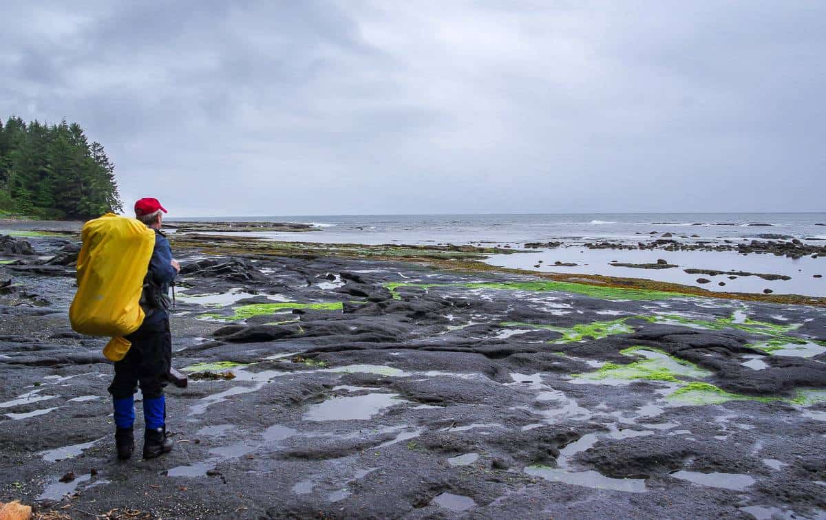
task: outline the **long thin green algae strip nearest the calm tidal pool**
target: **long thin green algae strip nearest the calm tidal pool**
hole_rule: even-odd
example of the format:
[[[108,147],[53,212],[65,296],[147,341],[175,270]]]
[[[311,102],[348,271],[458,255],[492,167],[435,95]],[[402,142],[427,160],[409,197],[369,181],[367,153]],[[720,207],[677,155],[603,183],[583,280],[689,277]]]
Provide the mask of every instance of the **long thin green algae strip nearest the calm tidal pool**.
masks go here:
[[[562,291],[591,296],[592,298],[600,298],[601,300],[665,300],[667,298],[685,296],[684,294],[678,292],[591,286],[582,283],[573,283],[571,281],[472,281],[454,284],[391,282],[385,284],[387,290],[392,293],[393,298],[396,298],[396,300],[401,297],[397,292],[400,287],[420,287],[422,289],[427,289],[430,287],[448,286],[465,287],[468,289],[493,289],[501,291]]]

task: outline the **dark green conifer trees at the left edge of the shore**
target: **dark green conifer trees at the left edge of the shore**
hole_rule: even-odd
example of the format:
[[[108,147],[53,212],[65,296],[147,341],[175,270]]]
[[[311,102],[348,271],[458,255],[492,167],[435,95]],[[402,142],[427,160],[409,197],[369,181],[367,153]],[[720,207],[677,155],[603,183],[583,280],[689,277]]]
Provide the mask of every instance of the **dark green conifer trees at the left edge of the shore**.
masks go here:
[[[86,220],[122,209],[115,165],[80,125],[0,119],[0,215]]]

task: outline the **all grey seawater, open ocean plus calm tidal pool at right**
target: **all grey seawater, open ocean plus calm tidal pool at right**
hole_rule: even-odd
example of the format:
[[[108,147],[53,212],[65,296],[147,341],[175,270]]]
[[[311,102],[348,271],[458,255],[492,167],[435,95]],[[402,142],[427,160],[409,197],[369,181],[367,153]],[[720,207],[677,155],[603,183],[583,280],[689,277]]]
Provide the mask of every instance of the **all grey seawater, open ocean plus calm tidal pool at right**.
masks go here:
[[[744,239],[767,239],[781,235],[807,243],[826,245],[826,213],[667,213],[667,214],[548,214],[548,215],[273,215],[258,217],[205,217],[178,220],[300,222],[317,232],[243,233],[284,241],[319,243],[399,243],[509,245],[520,248],[529,242],[562,242],[558,248],[532,253],[495,254],[487,262],[537,272],[575,272],[613,277],[646,278],[683,285],[703,286],[710,291],[753,292],[826,296],[826,258],[790,259],[771,254],[736,252],[588,249],[582,243],[611,241],[647,242],[671,233],[675,239],[733,243]],[[656,231],[657,234],[652,234]],[[682,238],[685,237],[685,238]],[[653,263],[664,259],[679,267],[639,269],[616,267],[614,262]],[[541,262],[539,262],[541,260]],[[574,263],[557,266],[555,262]],[[725,275],[698,276],[685,268],[780,274],[790,280],[767,281],[760,277]],[[710,279],[700,284],[698,278]]]

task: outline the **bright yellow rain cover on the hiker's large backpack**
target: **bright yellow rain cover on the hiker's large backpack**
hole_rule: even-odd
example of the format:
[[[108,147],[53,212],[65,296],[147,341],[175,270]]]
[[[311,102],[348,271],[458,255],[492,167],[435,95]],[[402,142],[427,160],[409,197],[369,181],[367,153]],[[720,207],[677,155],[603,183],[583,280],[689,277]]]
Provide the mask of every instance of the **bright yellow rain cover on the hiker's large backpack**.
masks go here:
[[[140,220],[107,213],[83,225],[78,292],[69,307],[72,329],[112,336],[103,354],[120,361],[131,347],[123,336],[144,322],[140,294],[154,249],[154,231]]]

